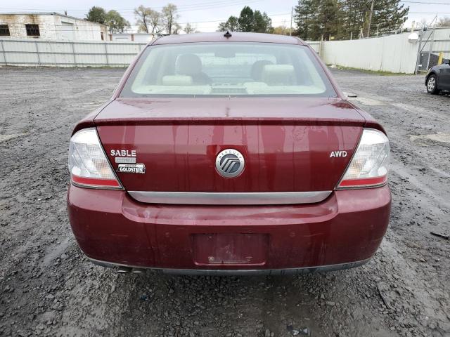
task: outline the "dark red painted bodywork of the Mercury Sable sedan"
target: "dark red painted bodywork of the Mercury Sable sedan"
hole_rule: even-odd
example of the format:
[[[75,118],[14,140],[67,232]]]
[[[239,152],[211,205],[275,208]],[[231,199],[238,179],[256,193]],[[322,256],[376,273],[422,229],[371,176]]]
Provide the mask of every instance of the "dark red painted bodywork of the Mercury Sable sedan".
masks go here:
[[[162,37],[150,48],[200,41],[304,44],[267,34],[188,34]],[[136,162],[146,165],[146,174],[118,173],[125,190],[70,185],[70,225],[87,256],[141,267],[231,270],[314,267],[373,256],[389,222],[389,187],[335,187],[363,128],[383,127],[343,98],[318,57],[336,98],[119,98],[138,59],[113,98],[74,130],[95,126],[116,171],[110,150],[136,150]],[[229,147],[242,152],[246,164],[239,177],[225,179],[214,161]],[[330,158],[338,150],[347,157]],[[355,181],[341,186],[349,183]],[[143,204],[126,190],[334,192],[317,204],[205,206]]]

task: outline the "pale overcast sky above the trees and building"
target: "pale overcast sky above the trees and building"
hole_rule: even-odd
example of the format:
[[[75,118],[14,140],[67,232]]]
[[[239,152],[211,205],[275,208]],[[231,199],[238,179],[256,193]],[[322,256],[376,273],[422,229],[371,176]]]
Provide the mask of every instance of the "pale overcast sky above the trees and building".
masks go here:
[[[134,8],[143,4],[160,11],[168,2],[178,6],[180,15],[178,22],[181,27],[190,22],[200,32],[215,32],[219,22],[225,21],[230,15],[238,16],[243,6],[266,12],[272,19],[274,27],[280,25],[289,27],[291,8],[297,4],[295,0],[1,0],[0,13],[68,11],[68,15],[84,18],[91,6],[101,6],[107,11],[110,9],[119,11],[131,25],[134,25],[136,22]],[[411,0],[402,3],[410,8],[406,27],[411,27],[411,22],[420,22],[422,19],[431,22],[436,14],[438,18],[450,17],[450,0]]]

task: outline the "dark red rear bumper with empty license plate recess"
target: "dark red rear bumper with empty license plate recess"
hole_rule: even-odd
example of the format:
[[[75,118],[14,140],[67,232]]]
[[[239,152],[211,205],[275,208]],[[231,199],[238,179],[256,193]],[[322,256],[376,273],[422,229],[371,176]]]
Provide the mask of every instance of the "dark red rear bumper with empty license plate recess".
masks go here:
[[[143,204],[124,191],[73,185],[68,191],[70,225],[94,262],[184,274],[280,275],[361,265],[383,239],[390,202],[387,186],[340,190],[318,204],[282,206]],[[220,247],[217,240],[216,246],[198,244],[198,238],[216,234]],[[210,252],[226,246],[223,238],[236,234],[243,241],[232,249],[250,249],[255,256],[209,263]],[[247,246],[236,247],[239,242]]]

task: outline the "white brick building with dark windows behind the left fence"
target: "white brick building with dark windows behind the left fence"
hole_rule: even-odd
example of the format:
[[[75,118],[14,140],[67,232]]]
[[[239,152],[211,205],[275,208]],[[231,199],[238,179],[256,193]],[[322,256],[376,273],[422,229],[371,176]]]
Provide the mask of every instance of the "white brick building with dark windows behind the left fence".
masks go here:
[[[59,13],[0,13],[0,38],[101,41],[108,27]]]

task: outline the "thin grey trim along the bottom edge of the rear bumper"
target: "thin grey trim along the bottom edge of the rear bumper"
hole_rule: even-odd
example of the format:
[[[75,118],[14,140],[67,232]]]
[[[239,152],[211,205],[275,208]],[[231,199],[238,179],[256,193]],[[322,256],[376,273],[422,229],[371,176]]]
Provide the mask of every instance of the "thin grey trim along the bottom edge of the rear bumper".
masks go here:
[[[94,258],[86,258],[94,263],[95,265],[100,265],[101,267],[115,268],[115,267],[129,267],[137,268],[140,270],[156,270],[162,272],[162,274],[167,275],[212,275],[212,276],[248,276],[248,275],[302,275],[311,272],[333,272],[335,270],[345,270],[354,267],[360,267],[365,265],[372,257],[366,260],[348,262],[348,263],[338,263],[335,265],[319,265],[315,267],[299,267],[299,268],[285,268],[285,269],[167,269],[158,267],[142,267],[133,265],[122,265],[120,263],[105,262],[101,260],[96,260]]]

